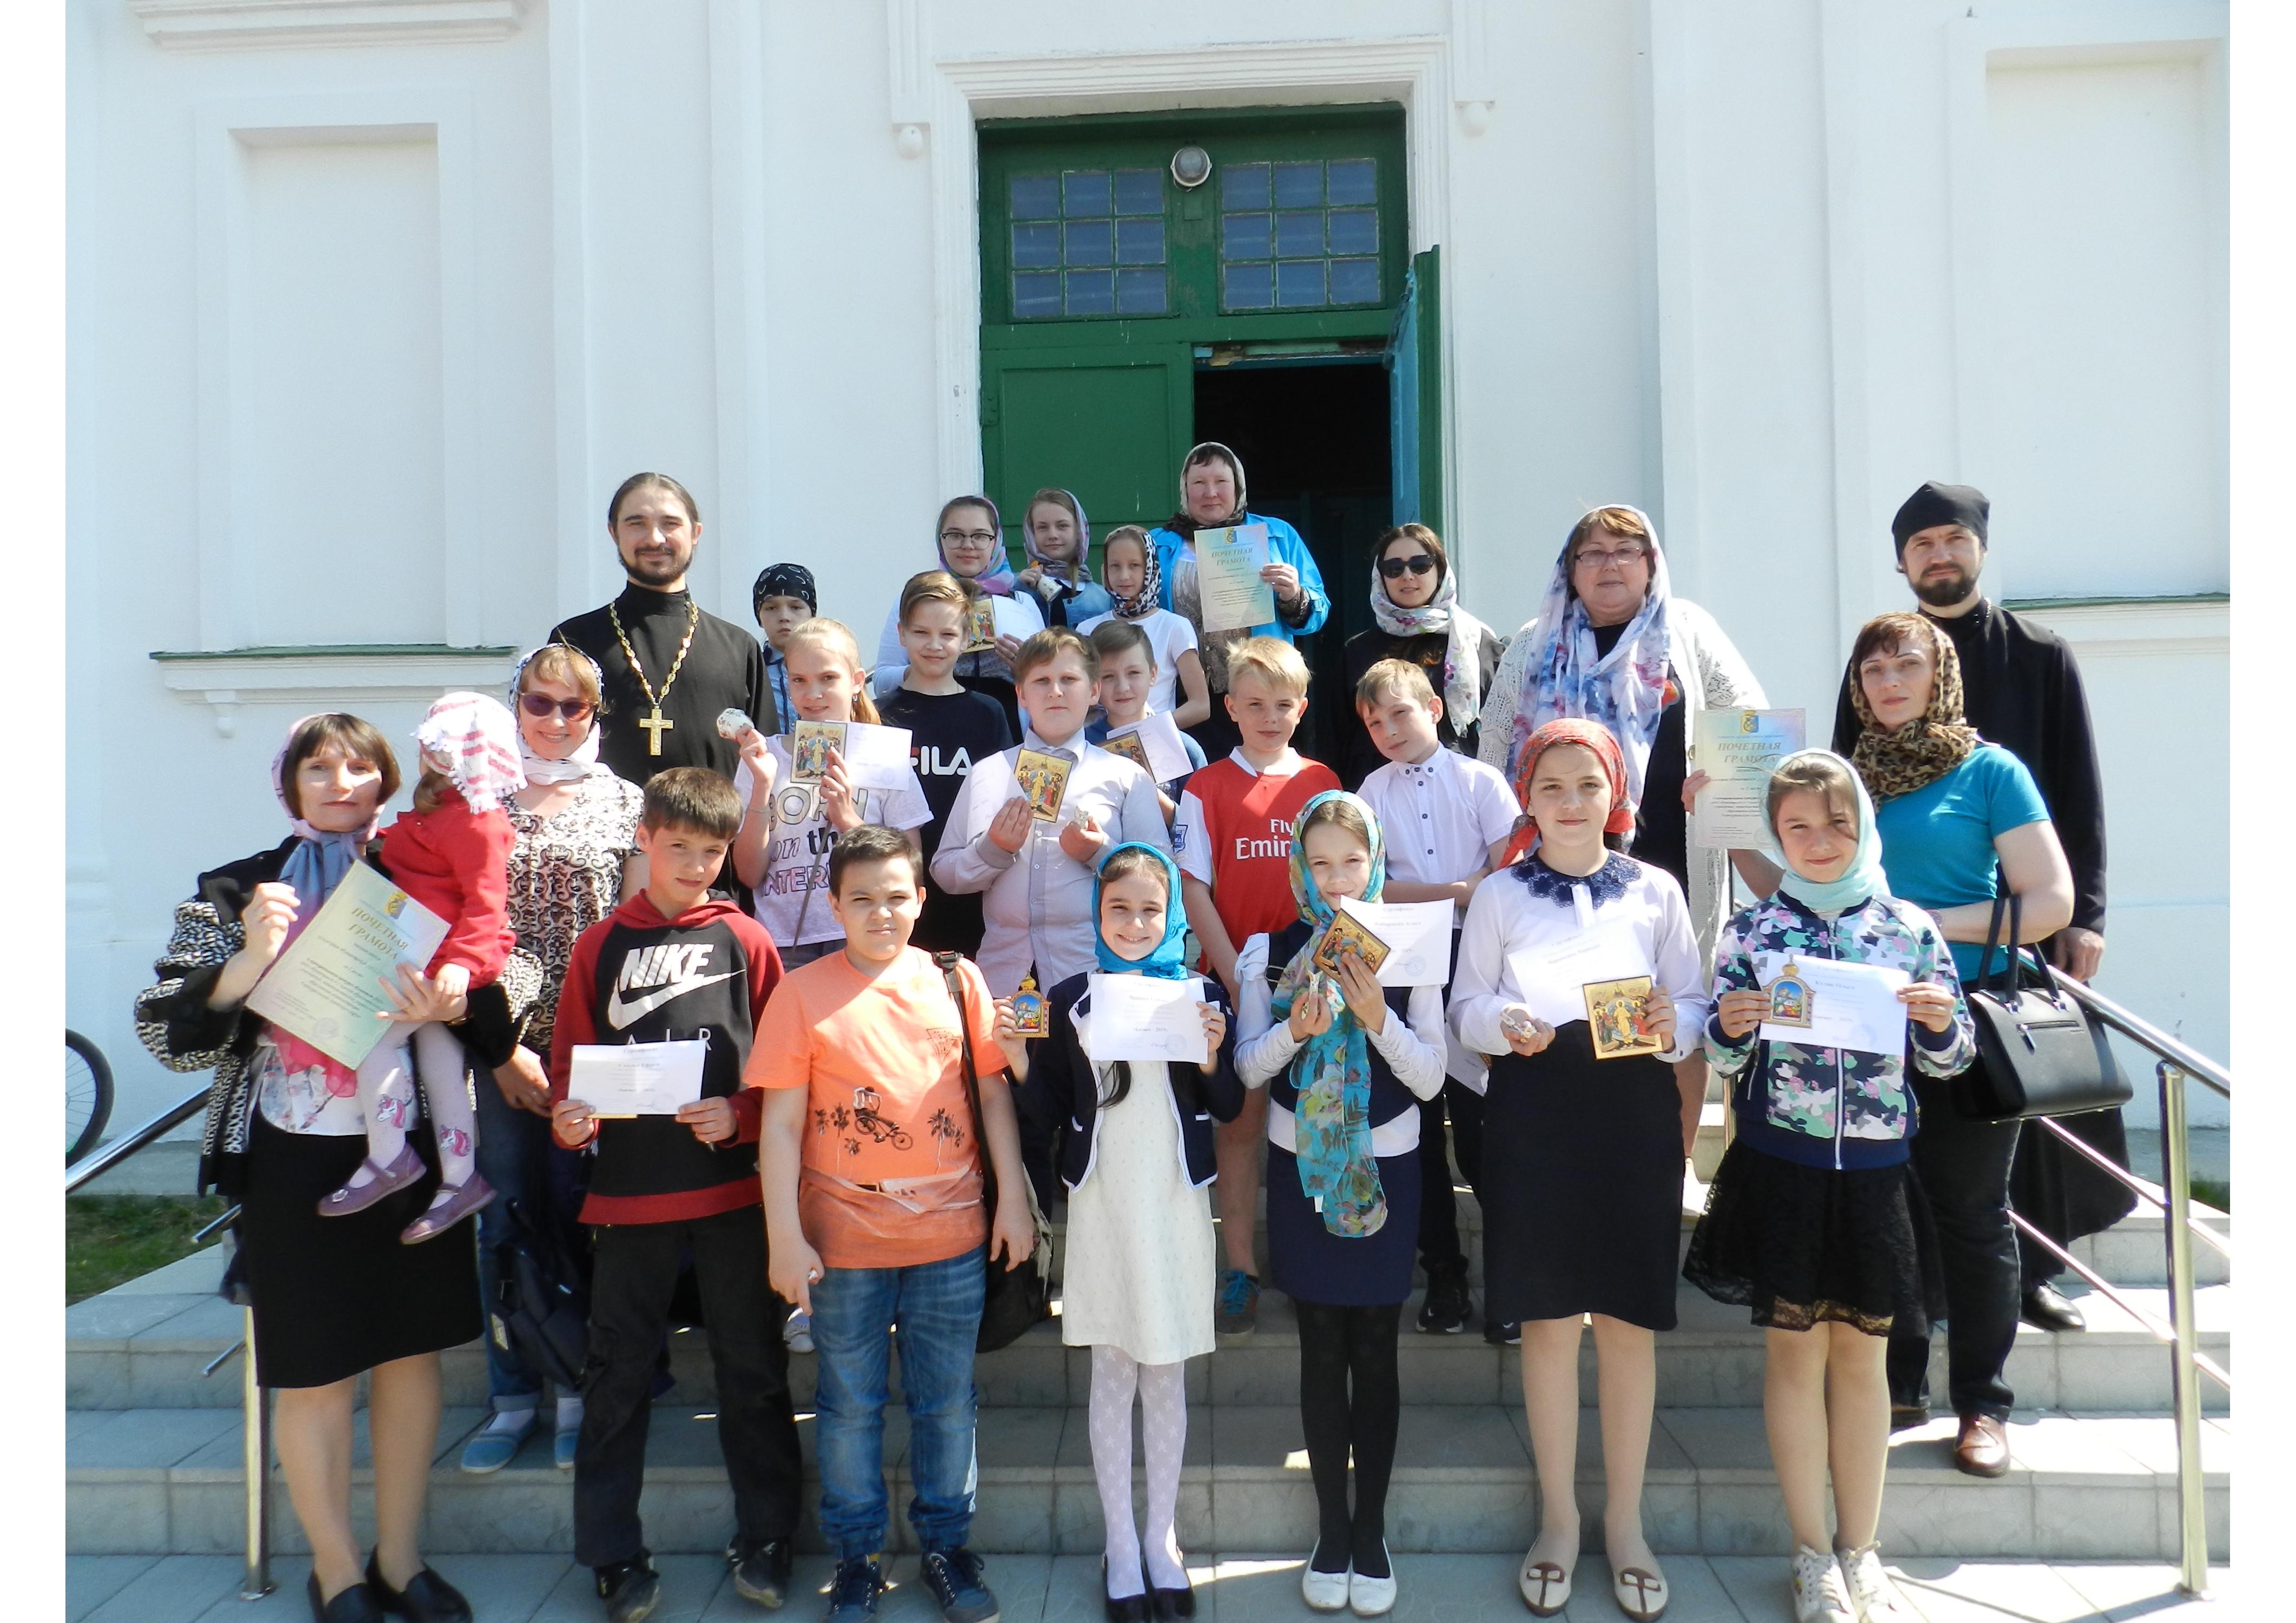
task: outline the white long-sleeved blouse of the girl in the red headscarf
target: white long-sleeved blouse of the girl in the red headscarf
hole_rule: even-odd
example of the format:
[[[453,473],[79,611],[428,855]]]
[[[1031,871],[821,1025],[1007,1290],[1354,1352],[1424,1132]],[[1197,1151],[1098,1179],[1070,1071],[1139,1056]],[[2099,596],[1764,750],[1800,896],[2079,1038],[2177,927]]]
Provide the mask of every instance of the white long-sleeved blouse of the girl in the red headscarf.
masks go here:
[[[1570,882],[1568,898],[1561,898],[1559,875],[1536,856],[1522,861],[1536,863],[1541,886],[1552,893],[1534,893],[1515,868],[1495,872],[1474,888],[1458,937],[1458,971],[1451,976],[1451,1031],[1458,1040],[1476,1054],[1508,1051],[1499,1015],[1525,1001],[1511,964],[1515,953],[1559,946],[1584,930],[1626,927],[1642,941],[1655,971],[1651,978],[1674,999],[1674,1047],[1658,1058],[1671,1063],[1692,1054],[1713,996],[1690,930],[1690,904],[1674,875],[1614,854],[1591,875],[1591,884]]]

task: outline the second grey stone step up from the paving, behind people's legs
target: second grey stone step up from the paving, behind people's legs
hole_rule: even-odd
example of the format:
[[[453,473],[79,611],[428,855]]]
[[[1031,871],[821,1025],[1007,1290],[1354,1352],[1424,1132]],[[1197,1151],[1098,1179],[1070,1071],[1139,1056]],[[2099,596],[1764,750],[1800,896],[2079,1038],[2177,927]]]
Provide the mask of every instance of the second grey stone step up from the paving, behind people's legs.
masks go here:
[[[67,1309],[64,1393],[73,1410],[197,1410],[239,1405],[239,1364],[232,1359],[202,1377],[200,1370],[241,1334],[241,1311],[214,1295],[220,1251],[204,1251],[131,1286],[90,1297]],[[2080,1334],[2053,1336],[2018,1327],[2009,1354],[2009,1384],[2034,1407],[2115,1410],[2165,1414],[2170,1361],[2163,1343],[2096,1295],[2073,1292],[2089,1318]],[[2124,1292],[2154,1318],[2167,1318],[2167,1292]],[[1674,1407],[1752,1407],[1761,1403],[1761,1331],[1745,1309],[1711,1302],[1692,1286],[1676,1295],[1681,1327],[1658,1338],[1658,1396]],[[2232,1361],[2232,1288],[2200,1292],[2202,1348]],[[1410,1329],[1417,1302],[1405,1309],[1398,1366],[1405,1403],[1476,1405],[1520,1403],[1522,1361],[1513,1348],[1492,1348],[1479,1331],[1421,1336]],[[670,1336],[670,1370],[684,1403],[707,1403],[714,1393],[709,1352],[700,1331]],[[1261,1297],[1261,1329],[1224,1336],[1208,1359],[1192,1359],[1192,1403],[1290,1403],[1297,1391],[1300,1336],[1290,1302],[1270,1290]],[[792,1359],[799,1396],[813,1393],[813,1359]],[[1058,1325],[1040,1325],[1003,1352],[978,1364],[980,1403],[990,1407],[1077,1405],[1091,1384],[1091,1354],[1063,1348]],[[1593,1403],[1593,1338],[1580,1364],[1580,1389]],[[1931,1389],[1945,1391],[1945,1345],[1931,1357]],[[487,1368],[480,1343],[445,1354],[445,1400],[461,1407],[487,1403]],[[2202,1382],[2202,1400],[2220,1412],[2227,1396]]]

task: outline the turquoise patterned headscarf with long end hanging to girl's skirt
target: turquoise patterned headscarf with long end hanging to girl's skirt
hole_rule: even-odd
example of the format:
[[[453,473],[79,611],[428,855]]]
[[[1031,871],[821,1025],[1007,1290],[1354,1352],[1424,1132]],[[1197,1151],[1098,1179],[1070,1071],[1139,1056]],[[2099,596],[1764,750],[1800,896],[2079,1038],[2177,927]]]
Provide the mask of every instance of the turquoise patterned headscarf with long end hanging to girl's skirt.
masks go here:
[[[1348,801],[1371,831],[1371,882],[1364,886],[1364,900],[1378,902],[1387,888],[1387,840],[1380,836],[1380,815],[1362,797],[1325,790],[1300,808],[1293,822],[1293,902],[1300,907],[1300,918],[1316,930],[1277,980],[1272,1005],[1277,1019],[1290,1019],[1300,996],[1325,996],[1316,973],[1316,950],[1332,930],[1336,909],[1306,872],[1309,817],[1325,801]],[[1341,1003],[1332,1024],[1306,1040],[1293,1061],[1293,1077],[1302,1081],[1293,1104],[1300,1187],[1311,1201],[1320,1201],[1322,1226],[1334,1235],[1362,1240],[1380,1233],[1387,1224],[1387,1191],[1380,1187],[1380,1162],[1371,1152],[1371,1045],[1352,1008]]]

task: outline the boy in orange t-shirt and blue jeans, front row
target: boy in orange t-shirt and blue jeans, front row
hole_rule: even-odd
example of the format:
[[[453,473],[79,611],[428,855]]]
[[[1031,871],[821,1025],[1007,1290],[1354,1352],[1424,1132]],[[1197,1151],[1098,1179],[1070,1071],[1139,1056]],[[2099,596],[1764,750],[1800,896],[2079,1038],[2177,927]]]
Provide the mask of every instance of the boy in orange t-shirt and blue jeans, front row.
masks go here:
[[[1019,1125],[980,971],[957,964],[962,1008],[909,946],[923,861],[907,836],[861,824],[829,852],[845,950],[774,989],[744,1081],[765,1090],[758,1164],[769,1279],[813,1315],[822,1538],[838,1556],[831,1616],[875,1609],[891,1504],[884,1488],[886,1350],[900,1325],[909,1405],[909,1524],[944,1623],[980,1623],[996,1598],[964,1547],[974,1494],[974,1341],[983,1242],[1006,1267],[1035,1242]],[[980,1210],[980,1143],[964,1097],[971,1033],[996,1212]]]

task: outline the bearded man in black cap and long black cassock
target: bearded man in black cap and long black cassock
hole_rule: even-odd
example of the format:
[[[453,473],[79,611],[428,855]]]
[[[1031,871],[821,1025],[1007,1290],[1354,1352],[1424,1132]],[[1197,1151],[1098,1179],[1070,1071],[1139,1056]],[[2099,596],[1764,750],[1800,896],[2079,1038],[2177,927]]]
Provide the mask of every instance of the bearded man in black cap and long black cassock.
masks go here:
[[[1986,562],[1991,503],[1968,484],[1929,482],[1890,521],[1899,572],[1922,613],[1961,654],[1961,712],[1988,744],[2025,762],[2073,870],[2073,923],[2048,939],[2050,962],[2089,980],[2105,955],[2105,792],[2089,732],[2089,700],[2073,650],[2048,627],[1986,599],[1977,576]],[[1844,673],[1835,705],[1835,751],[1857,741],[1851,707],[1855,670]],[[2128,1166],[2119,1111],[2064,1116],[2062,1125]],[[2009,1171],[2009,1205],[2062,1247],[2110,1228],[2135,1210],[2135,1194],[2096,1171],[2041,1123],[2025,1123]],[[2023,1318],[2041,1329],[2082,1329],[2080,1309],[2050,1281],[2057,1258],[2018,1230]]]

